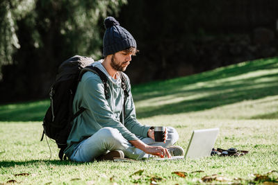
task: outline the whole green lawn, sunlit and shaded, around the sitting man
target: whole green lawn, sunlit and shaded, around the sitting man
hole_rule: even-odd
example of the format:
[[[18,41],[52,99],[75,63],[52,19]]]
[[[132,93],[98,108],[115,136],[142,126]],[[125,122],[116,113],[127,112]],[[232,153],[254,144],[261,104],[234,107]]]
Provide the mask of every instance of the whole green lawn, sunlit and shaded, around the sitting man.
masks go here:
[[[278,59],[255,60],[133,87],[139,121],[177,128],[187,148],[192,130],[220,127],[215,148],[249,150],[243,157],[185,161],[75,163],[60,161],[56,143],[40,142],[49,100],[0,106],[0,184],[259,184],[252,174],[278,170]],[[143,170],[141,175],[132,175]],[[199,173],[190,173],[203,170]],[[172,174],[187,172],[185,178]],[[24,175],[17,175],[27,173]],[[200,182],[218,174],[226,181]],[[268,175],[278,181],[278,173]],[[240,179],[235,179],[240,178]],[[263,177],[262,177],[263,178]],[[266,176],[265,176],[266,178]],[[267,183],[265,182],[265,183]]]

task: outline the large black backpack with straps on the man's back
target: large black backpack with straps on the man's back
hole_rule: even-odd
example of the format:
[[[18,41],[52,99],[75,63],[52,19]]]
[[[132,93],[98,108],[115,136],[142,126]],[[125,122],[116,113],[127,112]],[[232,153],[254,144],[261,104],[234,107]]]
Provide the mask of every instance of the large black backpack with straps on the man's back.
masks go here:
[[[65,60],[65,62],[60,64],[58,73],[56,74],[56,80],[50,88],[49,96],[51,102],[42,124],[42,139],[45,134],[56,141],[58,148],[60,148],[59,158],[61,160],[66,158],[64,156],[64,150],[67,148],[67,138],[72,130],[72,125],[70,123],[85,110],[84,107],[79,107],[78,112],[75,114],[72,112],[72,103],[76,88],[83,74],[87,71],[97,73],[104,83],[105,97],[106,99],[109,98],[107,77],[97,67],[92,67],[90,65],[92,62],[95,62],[92,58],[79,55]],[[126,90],[126,78],[122,72],[120,76],[122,78],[125,103],[129,93]],[[42,141],[42,139],[40,141]]]

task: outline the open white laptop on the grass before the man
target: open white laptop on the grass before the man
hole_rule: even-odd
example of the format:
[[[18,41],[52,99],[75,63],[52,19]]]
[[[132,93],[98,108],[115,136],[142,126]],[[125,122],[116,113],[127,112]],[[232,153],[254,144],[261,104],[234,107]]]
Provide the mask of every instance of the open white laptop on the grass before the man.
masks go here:
[[[219,133],[219,128],[193,130],[185,156],[174,156],[170,159],[200,158],[211,156],[211,150]],[[155,158],[155,160],[167,160],[169,158]]]

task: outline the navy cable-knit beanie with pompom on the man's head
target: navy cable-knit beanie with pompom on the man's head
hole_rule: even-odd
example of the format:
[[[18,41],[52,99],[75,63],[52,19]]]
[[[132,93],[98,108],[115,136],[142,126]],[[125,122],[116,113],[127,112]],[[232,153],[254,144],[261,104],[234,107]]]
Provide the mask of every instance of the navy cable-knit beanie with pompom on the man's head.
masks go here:
[[[126,29],[120,26],[114,17],[107,17],[104,20],[104,26],[106,28],[104,33],[104,57],[128,49],[131,46],[136,48],[135,39]]]

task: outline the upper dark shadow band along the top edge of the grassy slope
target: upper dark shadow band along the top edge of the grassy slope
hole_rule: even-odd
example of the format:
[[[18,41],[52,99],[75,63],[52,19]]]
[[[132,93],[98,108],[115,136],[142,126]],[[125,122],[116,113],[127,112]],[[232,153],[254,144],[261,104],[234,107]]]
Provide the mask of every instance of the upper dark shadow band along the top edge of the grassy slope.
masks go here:
[[[193,85],[200,82],[203,82],[204,85],[206,85],[206,82],[214,82],[215,80],[236,77],[246,73],[268,69],[278,69],[278,58],[255,60],[252,62],[236,64],[227,68],[198,73],[193,76],[174,78],[161,82],[149,82],[146,85],[138,85],[133,87],[133,98],[136,101],[147,100],[156,96],[165,96],[167,94],[176,93],[181,87],[185,87],[186,85]],[[272,76],[277,76],[277,73]],[[222,83],[222,85],[225,85],[225,83]],[[203,87],[201,90],[203,90]],[[196,91],[196,89],[193,89],[193,91]]]

